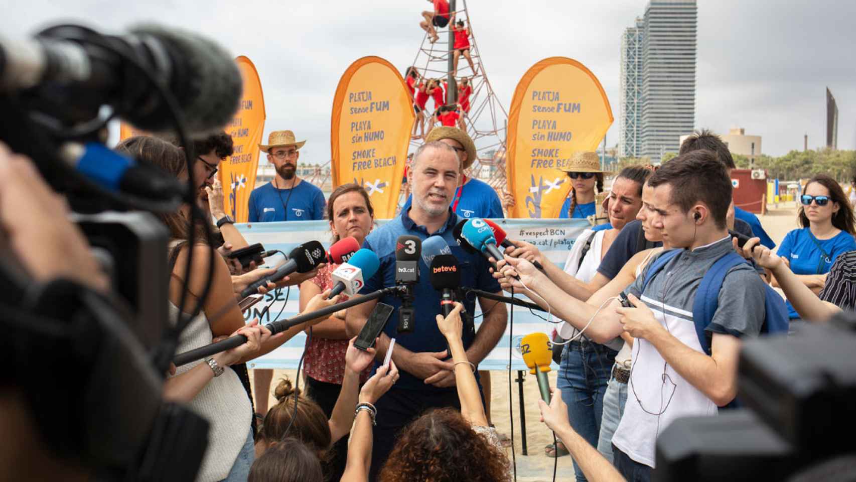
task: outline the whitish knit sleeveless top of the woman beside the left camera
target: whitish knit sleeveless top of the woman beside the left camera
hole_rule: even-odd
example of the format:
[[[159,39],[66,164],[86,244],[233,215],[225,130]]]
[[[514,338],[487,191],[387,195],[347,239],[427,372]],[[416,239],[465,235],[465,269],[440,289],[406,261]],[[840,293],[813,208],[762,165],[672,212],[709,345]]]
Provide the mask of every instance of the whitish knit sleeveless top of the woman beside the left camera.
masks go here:
[[[169,319],[175,320],[178,307],[169,303]],[[211,326],[205,313],[199,312],[178,338],[176,353],[186,352],[211,343]],[[175,375],[187,372],[204,360],[197,360],[175,370]],[[253,406],[247,391],[234,370],[224,367],[223,374],[211,378],[187,406],[205,417],[208,427],[208,448],[202,458],[202,467],[196,480],[214,481],[229,475],[238,453],[241,452],[253,421]],[[171,378],[171,376],[170,376]]]

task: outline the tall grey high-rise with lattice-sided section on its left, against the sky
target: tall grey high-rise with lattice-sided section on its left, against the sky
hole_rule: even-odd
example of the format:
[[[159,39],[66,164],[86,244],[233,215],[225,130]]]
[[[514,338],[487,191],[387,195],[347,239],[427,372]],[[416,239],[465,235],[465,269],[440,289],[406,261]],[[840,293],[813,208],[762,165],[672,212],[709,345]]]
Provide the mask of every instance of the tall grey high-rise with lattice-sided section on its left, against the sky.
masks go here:
[[[621,155],[657,162],[695,124],[698,7],[651,0],[621,41]],[[640,48],[641,47],[641,48]]]

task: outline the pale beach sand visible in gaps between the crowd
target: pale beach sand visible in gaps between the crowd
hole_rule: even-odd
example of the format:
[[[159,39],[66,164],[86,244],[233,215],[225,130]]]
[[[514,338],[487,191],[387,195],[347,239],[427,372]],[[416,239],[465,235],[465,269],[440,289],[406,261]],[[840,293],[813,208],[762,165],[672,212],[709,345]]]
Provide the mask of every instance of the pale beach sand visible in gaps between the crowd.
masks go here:
[[[792,203],[780,203],[779,205],[768,205],[768,212],[764,216],[758,215],[764,229],[776,244],[782,241],[788,231],[797,228],[796,205]],[[294,379],[294,370],[275,370],[274,383],[283,376]],[[517,459],[517,479],[528,482],[550,480],[553,474],[554,459],[544,455],[544,446],[553,443],[553,435],[539,420],[538,412],[538,384],[534,376],[526,375],[524,380],[524,407],[526,414],[526,444],[528,455],[522,455],[522,441],[520,437],[520,402],[518,397],[517,372],[511,372],[511,391],[509,401],[508,372],[490,372],[491,396],[490,412],[491,421],[496,429],[508,436],[511,435],[511,417],[514,419],[514,455]],[[252,376],[252,371],[251,371]],[[556,384],[556,372],[550,372],[550,384]],[[302,380],[301,380],[302,386]],[[276,400],[270,397],[270,406]],[[509,417],[509,409],[510,415]],[[378,416],[383,416],[379,414]],[[511,449],[508,449],[511,456]],[[569,456],[560,457],[558,460],[558,472],[556,480],[573,480],[574,467]]]

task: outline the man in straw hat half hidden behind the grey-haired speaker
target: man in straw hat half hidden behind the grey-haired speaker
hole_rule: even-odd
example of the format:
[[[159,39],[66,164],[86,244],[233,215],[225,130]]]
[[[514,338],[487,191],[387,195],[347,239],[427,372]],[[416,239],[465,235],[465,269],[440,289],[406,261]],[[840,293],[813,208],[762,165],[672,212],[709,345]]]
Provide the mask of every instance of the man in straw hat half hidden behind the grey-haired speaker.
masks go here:
[[[440,140],[458,153],[458,158],[461,159],[461,172],[469,169],[476,160],[476,146],[473,140],[466,132],[459,128],[439,127],[431,129],[425,142],[432,140]],[[413,196],[407,198],[402,211],[407,211],[413,202]],[[499,201],[499,196],[496,195],[493,187],[487,182],[473,179],[467,175],[461,176],[461,185],[455,189],[455,196],[452,198],[452,211],[458,217],[468,219],[471,217],[487,217],[487,218],[502,218],[502,203]]]

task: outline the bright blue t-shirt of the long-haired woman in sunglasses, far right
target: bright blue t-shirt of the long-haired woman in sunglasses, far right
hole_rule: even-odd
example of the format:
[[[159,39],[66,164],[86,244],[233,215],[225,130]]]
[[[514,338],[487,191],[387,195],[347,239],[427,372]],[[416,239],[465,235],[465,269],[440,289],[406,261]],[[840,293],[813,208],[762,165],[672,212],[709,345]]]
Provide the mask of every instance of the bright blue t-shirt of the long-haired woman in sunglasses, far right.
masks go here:
[[[823,249],[823,253],[821,253]],[[785,236],[779,245],[779,256],[784,256],[791,263],[791,271],[797,275],[822,275],[828,273],[835,258],[841,253],[856,249],[853,235],[841,231],[828,240],[818,240],[811,234],[811,229],[794,229]],[[788,301],[788,314],[791,319],[800,318],[800,313]]]

